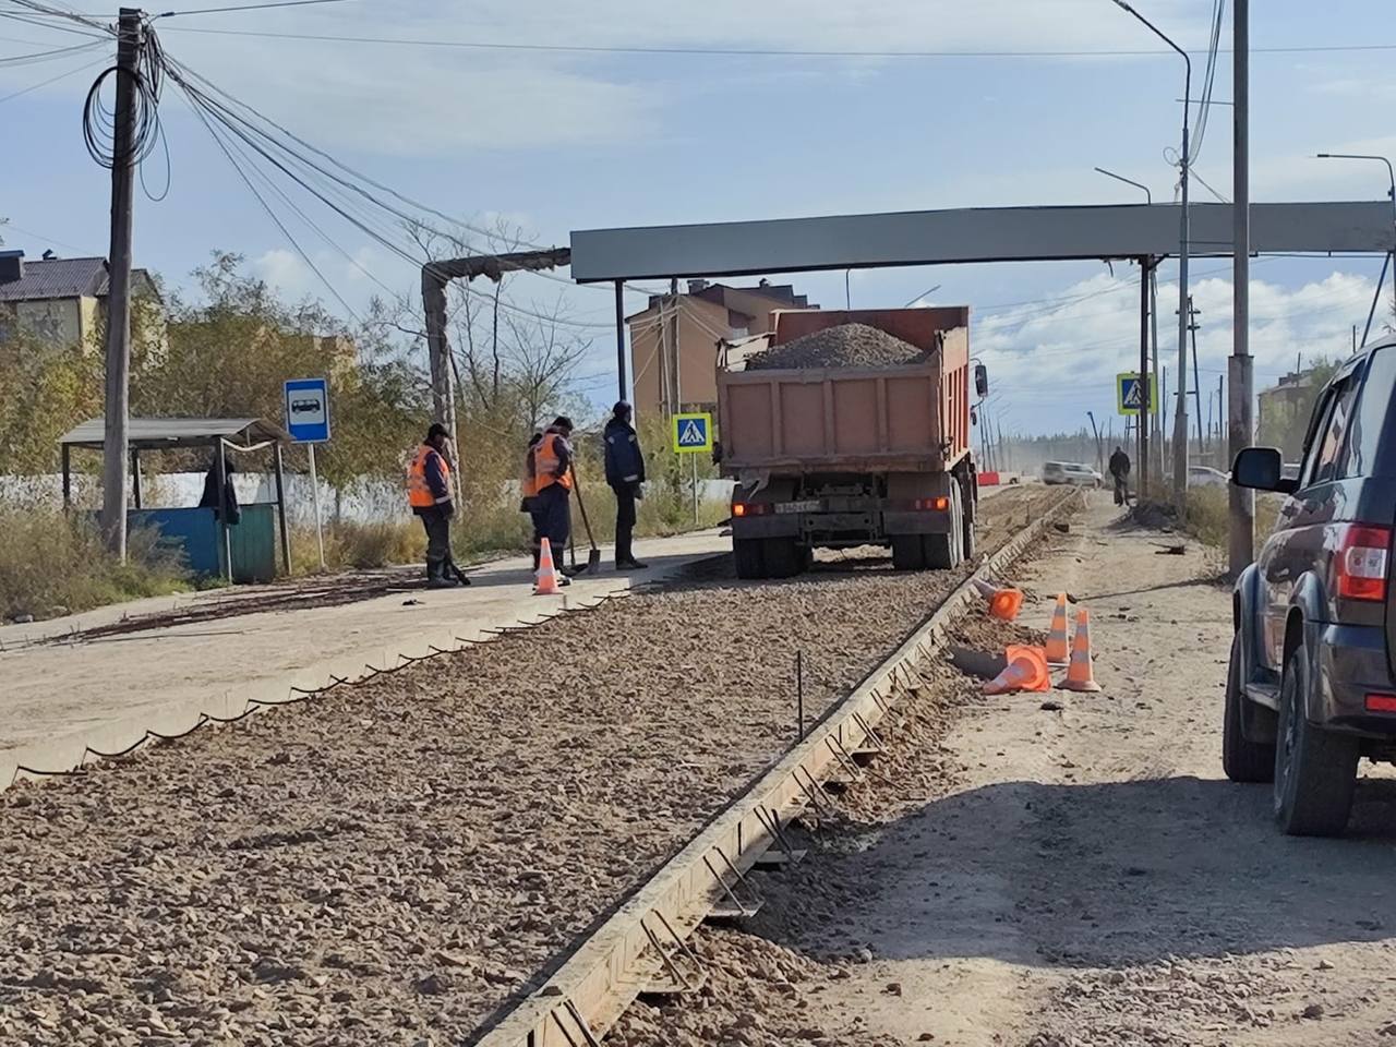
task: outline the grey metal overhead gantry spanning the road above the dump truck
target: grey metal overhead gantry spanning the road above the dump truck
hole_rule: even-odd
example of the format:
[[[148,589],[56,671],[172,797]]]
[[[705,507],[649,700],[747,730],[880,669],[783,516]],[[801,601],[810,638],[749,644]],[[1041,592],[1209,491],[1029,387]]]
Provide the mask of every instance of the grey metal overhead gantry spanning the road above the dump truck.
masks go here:
[[[1396,223],[1386,200],[1252,204],[1251,254],[1389,254]],[[1149,370],[1149,271],[1178,253],[1177,204],[1001,207],[902,211],[757,222],[586,229],[571,236],[572,278],[616,285],[616,367],[627,395],[625,281],[750,276],[1011,261],[1138,261],[1141,373]],[[1230,257],[1230,204],[1189,207],[1189,253]],[[1148,384],[1145,384],[1148,388]],[[1148,426],[1141,426],[1141,476],[1148,473]]]

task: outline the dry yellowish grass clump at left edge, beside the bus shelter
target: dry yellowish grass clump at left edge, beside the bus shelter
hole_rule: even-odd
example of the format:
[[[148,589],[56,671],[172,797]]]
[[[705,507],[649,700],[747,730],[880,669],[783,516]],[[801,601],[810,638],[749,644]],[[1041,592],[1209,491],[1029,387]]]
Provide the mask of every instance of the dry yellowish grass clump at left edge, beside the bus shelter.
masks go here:
[[[190,588],[180,557],[151,530],[131,532],[124,564],[87,514],[0,504],[0,618],[52,618]]]

